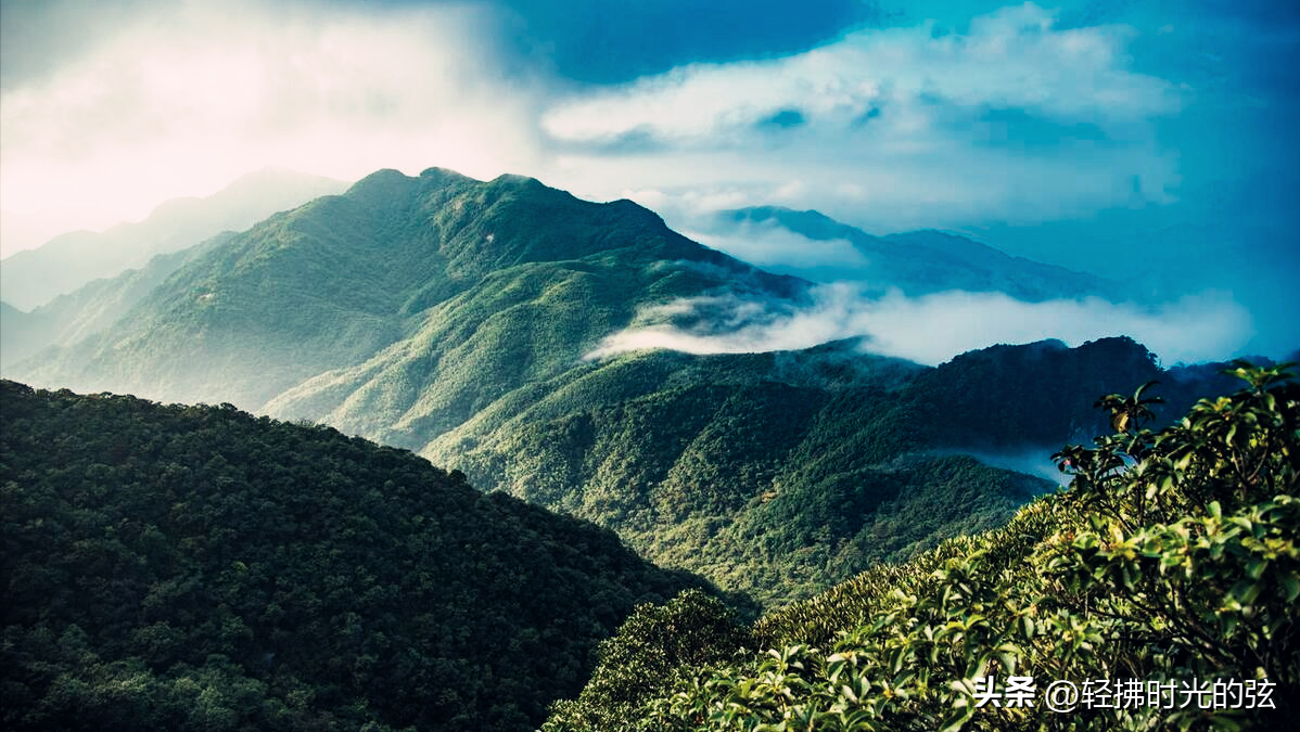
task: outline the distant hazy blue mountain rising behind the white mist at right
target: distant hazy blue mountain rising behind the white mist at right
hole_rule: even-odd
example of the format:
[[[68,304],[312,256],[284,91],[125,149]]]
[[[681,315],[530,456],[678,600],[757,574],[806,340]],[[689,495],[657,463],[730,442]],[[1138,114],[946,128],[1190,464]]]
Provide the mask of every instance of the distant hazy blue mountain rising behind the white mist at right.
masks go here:
[[[725,226],[741,231],[781,228],[812,242],[846,241],[862,255],[863,264],[781,265],[774,272],[815,281],[854,280],[885,290],[897,287],[907,295],[945,290],[998,291],[1026,302],[1100,296],[1122,302],[1135,299],[1118,282],[1009,256],[974,239],[935,230],[874,237],[816,211],[755,207],[719,215]]]

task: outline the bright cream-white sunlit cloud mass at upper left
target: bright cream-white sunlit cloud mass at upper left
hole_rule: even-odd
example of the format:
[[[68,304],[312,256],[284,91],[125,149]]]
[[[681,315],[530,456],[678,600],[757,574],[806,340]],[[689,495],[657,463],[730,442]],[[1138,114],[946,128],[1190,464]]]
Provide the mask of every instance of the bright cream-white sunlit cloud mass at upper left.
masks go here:
[[[0,109],[5,209],[147,213],[268,165],[355,179],[536,166],[533,96],[474,40],[484,10],[151,4]]]

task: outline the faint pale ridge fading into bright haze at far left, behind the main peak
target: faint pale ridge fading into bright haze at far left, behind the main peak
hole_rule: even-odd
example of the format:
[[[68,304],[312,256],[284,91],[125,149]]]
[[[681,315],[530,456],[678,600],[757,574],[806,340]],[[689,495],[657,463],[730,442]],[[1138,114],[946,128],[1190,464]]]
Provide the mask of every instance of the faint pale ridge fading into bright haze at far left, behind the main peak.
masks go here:
[[[4,302],[30,311],[58,295],[127,269],[160,254],[176,252],[224,230],[243,230],[277,211],[334,194],[347,183],[292,170],[250,173],[203,199],[169,200],[144,221],[118,224],[104,233],[72,231],[0,260]]]

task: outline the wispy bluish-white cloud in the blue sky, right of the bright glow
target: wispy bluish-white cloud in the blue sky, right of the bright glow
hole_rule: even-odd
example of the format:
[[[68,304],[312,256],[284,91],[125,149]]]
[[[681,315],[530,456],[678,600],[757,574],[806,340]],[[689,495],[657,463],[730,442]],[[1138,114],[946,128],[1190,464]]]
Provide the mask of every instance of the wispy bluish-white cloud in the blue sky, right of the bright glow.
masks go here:
[[[1156,121],[1183,92],[1130,69],[1134,35],[1057,30],[1026,4],[963,35],[862,30],[788,57],[580,90],[541,126],[569,146],[560,179],[595,195],[738,195],[732,205],[816,208],[876,231],[1088,217],[1170,203],[1179,183]],[[784,111],[803,122],[763,124]]]

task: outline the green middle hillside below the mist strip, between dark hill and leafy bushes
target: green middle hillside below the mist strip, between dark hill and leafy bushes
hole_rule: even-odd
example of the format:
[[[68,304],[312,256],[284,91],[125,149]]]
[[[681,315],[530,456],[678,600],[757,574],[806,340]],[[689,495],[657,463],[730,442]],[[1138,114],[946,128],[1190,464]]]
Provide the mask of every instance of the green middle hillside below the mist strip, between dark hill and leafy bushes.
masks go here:
[[[1048,463],[1104,426],[1084,394],[1160,374],[1128,339],[998,346],[935,369],[854,343],[641,352],[519,390],[424,454],[775,607],[1001,525],[1053,484],[966,452]]]

